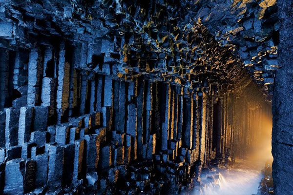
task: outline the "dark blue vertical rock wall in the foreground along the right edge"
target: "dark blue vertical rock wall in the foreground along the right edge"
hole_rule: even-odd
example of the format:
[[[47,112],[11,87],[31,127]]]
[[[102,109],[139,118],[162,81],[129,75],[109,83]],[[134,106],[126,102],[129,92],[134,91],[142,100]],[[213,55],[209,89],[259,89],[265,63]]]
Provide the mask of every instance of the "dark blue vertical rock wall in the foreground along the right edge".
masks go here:
[[[280,43],[274,97],[272,102],[273,129],[272,155],[273,180],[276,195],[292,194],[292,2],[278,0],[278,16],[280,20]]]

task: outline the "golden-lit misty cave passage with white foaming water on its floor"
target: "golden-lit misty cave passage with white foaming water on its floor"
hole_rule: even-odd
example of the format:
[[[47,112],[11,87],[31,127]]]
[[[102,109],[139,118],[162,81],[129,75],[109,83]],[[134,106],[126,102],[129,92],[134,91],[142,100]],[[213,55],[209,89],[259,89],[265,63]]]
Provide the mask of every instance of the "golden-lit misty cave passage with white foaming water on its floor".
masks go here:
[[[214,165],[201,171],[201,184],[194,195],[272,194],[270,102],[250,83],[213,106]],[[222,150],[225,156],[221,156]]]

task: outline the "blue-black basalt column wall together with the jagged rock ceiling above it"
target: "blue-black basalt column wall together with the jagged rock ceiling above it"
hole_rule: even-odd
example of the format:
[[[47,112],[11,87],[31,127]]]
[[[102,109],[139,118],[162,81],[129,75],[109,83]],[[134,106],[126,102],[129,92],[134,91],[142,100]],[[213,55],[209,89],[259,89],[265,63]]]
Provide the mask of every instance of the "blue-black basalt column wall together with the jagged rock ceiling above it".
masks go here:
[[[249,102],[271,99],[278,23],[275,2],[230,4],[0,0],[0,190],[179,194],[243,156]]]

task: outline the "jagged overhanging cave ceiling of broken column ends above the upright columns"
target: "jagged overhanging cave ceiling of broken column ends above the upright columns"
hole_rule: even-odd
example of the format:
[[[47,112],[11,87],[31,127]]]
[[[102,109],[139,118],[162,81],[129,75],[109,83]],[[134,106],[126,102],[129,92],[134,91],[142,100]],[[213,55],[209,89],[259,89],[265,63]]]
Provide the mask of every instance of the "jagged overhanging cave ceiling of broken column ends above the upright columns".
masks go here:
[[[89,72],[215,95],[252,78],[272,97],[276,0],[0,0],[0,7],[0,47],[65,41],[81,54],[75,68]],[[102,70],[101,59],[110,68]]]

